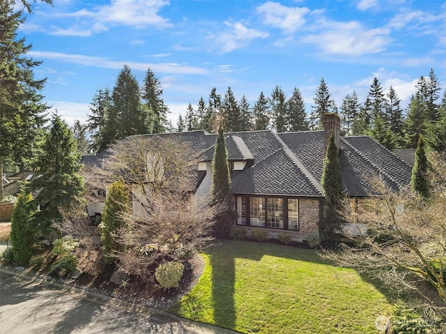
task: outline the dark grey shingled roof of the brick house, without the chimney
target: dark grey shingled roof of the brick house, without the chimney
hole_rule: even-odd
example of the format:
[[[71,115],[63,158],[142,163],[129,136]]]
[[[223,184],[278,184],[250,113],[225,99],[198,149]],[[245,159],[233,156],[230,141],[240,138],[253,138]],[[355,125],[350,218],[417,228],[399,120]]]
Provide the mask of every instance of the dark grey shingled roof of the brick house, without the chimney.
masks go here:
[[[247,162],[243,171],[232,174],[233,193],[322,197],[324,133],[323,130],[279,134],[270,130],[226,133],[228,160]],[[160,136],[186,142],[201,161],[213,158],[215,134],[191,131]],[[369,195],[367,177],[371,175],[382,176],[395,190],[410,183],[410,165],[374,139],[341,137],[339,143],[341,174],[348,195]],[[195,189],[203,177],[203,171],[191,176]]]

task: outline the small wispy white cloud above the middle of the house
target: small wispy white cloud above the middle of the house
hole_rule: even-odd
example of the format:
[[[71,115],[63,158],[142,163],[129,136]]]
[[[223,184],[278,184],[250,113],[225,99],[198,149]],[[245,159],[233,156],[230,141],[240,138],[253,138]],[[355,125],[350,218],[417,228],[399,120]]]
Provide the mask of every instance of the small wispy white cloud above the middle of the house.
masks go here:
[[[234,24],[224,21],[226,26],[229,26],[230,31],[226,31],[217,38],[223,45],[223,52],[231,52],[238,47],[243,47],[249,41],[257,38],[267,38],[268,33],[257,29],[249,29],[240,22]]]

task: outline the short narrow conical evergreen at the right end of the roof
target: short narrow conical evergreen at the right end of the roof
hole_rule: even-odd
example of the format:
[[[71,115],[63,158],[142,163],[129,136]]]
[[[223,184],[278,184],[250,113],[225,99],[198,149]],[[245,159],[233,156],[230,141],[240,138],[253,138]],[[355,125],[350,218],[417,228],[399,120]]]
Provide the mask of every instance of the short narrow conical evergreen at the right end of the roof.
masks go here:
[[[424,139],[420,135],[417,149],[415,150],[415,164],[412,169],[412,178],[410,179],[410,188],[423,198],[429,197],[431,183],[429,181],[429,169],[431,168],[427,160],[424,149]]]

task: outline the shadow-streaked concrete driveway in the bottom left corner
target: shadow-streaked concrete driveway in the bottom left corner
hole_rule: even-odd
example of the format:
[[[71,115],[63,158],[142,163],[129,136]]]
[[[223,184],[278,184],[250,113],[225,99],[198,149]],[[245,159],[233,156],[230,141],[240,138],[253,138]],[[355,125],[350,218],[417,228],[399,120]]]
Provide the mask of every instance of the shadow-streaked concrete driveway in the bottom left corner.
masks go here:
[[[134,312],[0,270],[0,333],[233,333],[158,310]]]

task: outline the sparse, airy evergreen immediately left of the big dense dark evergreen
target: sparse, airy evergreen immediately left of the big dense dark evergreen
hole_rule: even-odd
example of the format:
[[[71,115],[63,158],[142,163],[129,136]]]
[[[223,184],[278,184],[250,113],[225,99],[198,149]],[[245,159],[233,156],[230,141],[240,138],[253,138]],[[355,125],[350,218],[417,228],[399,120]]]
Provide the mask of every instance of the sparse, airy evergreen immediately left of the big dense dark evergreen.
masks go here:
[[[113,138],[116,137],[112,133],[105,132],[105,116],[109,115],[111,107],[112,96],[110,90],[108,88],[99,89],[93,96],[93,102],[89,107],[91,114],[88,115],[89,118],[87,120],[88,128],[92,133],[91,137],[93,139],[91,151],[95,153],[104,151],[107,148],[107,144],[111,143]],[[112,128],[109,130],[112,130]]]

